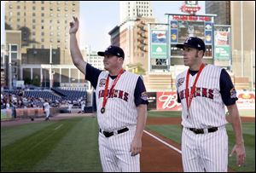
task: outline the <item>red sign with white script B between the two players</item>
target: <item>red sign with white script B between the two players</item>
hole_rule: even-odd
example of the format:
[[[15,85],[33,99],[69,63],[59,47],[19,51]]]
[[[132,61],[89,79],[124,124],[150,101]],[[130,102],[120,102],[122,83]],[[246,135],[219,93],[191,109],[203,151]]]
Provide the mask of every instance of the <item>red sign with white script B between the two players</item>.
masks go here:
[[[181,104],[177,102],[176,92],[157,92],[157,110],[180,111]]]

